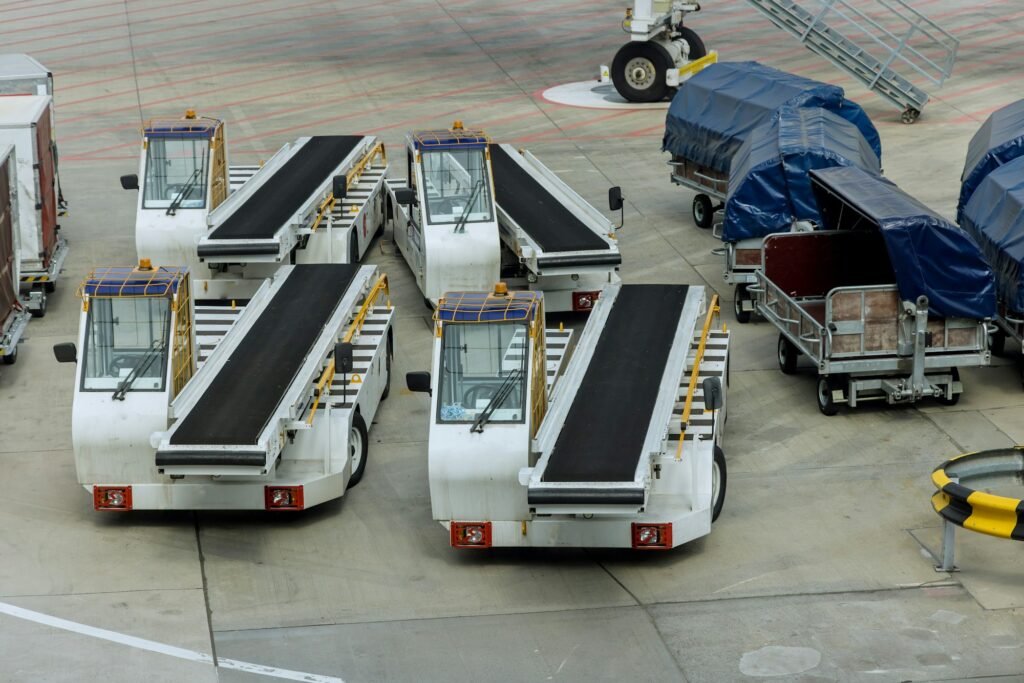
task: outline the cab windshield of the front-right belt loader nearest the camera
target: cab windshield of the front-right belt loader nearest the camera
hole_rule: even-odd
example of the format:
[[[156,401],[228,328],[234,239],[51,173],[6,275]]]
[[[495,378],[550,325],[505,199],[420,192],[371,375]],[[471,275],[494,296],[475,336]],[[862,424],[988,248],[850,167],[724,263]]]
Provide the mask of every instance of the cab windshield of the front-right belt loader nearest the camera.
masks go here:
[[[437,421],[472,423],[489,409],[492,423],[523,422],[527,341],[523,324],[445,325]]]

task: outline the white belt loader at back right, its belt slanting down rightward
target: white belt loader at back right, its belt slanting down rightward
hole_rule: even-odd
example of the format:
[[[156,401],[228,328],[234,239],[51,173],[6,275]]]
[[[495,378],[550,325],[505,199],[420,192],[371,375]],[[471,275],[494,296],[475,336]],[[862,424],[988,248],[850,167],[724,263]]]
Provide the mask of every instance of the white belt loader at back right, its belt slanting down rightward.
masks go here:
[[[528,152],[457,121],[407,138],[407,180],[388,180],[394,242],[433,306],[503,280],[550,310],[587,311],[618,282],[615,226]],[[609,190],[612,210],[621,191]]]

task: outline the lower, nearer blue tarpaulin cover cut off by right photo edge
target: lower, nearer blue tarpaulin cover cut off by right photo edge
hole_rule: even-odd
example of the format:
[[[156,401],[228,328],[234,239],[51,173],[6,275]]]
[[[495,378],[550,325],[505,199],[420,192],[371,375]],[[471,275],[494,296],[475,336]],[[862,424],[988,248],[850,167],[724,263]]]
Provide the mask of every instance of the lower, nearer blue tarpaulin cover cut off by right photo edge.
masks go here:
[[[961,225],[992,264],[999,300],[1024,312],[1024,157],[985,176],[964,208]]]

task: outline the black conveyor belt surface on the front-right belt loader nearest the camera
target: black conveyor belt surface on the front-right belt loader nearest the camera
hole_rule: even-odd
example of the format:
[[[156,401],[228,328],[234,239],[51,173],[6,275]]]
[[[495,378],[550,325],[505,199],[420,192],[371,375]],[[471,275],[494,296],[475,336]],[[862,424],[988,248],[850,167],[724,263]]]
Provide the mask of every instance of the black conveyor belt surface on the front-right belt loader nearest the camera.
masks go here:
[[[623,285],[543,481],[633,481],[688,289]]]

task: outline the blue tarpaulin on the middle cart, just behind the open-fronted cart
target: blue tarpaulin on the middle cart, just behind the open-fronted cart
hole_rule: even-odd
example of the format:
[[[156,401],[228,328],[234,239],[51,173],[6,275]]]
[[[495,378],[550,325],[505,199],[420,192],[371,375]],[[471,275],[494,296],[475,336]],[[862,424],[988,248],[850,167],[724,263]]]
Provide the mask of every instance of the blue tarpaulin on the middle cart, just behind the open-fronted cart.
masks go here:
[[[818,108],[779,109],[777,118],[751,131],[732,159],[722,240],[764,238],[788,230],[794,220],[820,224],[807,172],[830,166],[882,172],[849,121]]]

